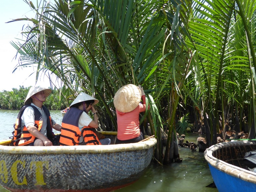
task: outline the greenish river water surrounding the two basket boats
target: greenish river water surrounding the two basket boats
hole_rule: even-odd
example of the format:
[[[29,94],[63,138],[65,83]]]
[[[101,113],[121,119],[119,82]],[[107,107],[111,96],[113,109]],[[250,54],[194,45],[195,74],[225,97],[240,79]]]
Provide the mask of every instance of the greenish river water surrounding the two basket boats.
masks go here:
[[[0,110],[0,140],[12,136],[13,124],[19,111]],[[61,124],[60,111],[50,111],[56,123]],[[58,133],[58,132],[57,132]],[[185,140],[196,142],[197,137],[204,135],[187,133]],[[216,188],[206,187],[213,182],[204,154],[179,147],[182,163],[161,166],[151,163],[144,175],[130,186],[115,190],[115,192],[218,192]],[[0,192],[9,192],[0,185]]]

